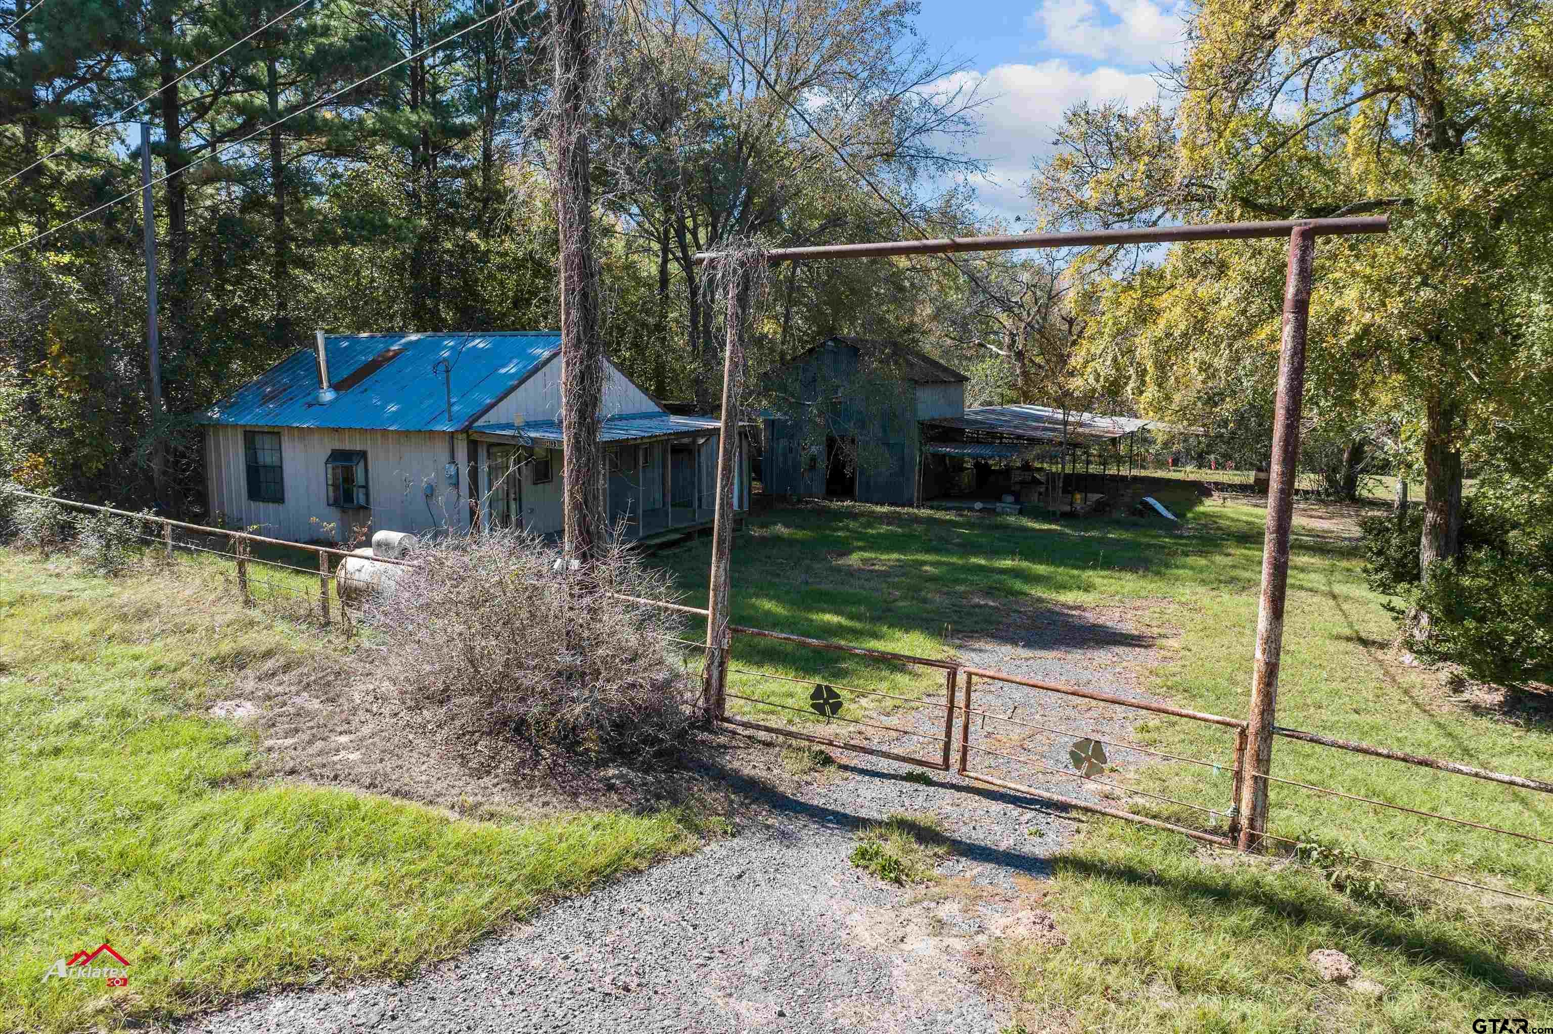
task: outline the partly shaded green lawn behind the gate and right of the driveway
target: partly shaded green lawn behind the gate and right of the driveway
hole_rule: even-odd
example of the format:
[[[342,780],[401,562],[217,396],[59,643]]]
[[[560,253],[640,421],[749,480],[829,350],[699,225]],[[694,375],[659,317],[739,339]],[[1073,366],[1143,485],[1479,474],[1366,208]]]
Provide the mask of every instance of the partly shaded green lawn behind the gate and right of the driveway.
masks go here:
[[[868,506],[770,511],[735,542],[735,621],[932,657],[944,654],[944,626],[974,630],[994,623],[999,607],[1124,604],[1179,632],[1149,674],[1154,692],[1242,717],[1264,511],[1199,501],[1186,486],[1159,495],[1183,517],[1179,529]],[[705,545],[665,562],[700,602]],[[1343,529],[1297,517],[1280,723],[1553,778],[1548,725],[1454,708],[1438,672],[1390,657],[1393,624],[1382,602],[1365,587]],[[887,666],[822,664],[811,654],[736,640],[735,664],[845,682],[840,669],[870,680],[863,686],[890,677]],[[808,689],[730,678],[738,685],[800,706]],[[916,677],[913,685],[927,692],[941,683]],[[1225,765],[1233,750],[1225,730],[1177,719],[1151,719],[1138,737]],[[1531,792],[1294,741],[1277,742],[1273,773],[1553,838],[1553,800]],[[1227,769],[1154,764],[1121,778],[1210,807],[1230,803]],[[1202,820],[1141,800],[1129,807]],[[1294,787],[1272,789],[1272,832],[1553,894],[1553,848]],[[1322,862],[1236,859],[1166,832],[1086,821],[1058,860],[1048,899],[1070,944],[1003,949],[1036,1017],[1031,1029],[1056,1022],[1104,1031],[1454,1031],[1471,1029],[1478,1015],[1553,1025],[1553,910],[1399,877],[1340,854]],[[1305,963],[1317,947],[1348,952],[1387,994],[1374,1001],[1320,984]]]

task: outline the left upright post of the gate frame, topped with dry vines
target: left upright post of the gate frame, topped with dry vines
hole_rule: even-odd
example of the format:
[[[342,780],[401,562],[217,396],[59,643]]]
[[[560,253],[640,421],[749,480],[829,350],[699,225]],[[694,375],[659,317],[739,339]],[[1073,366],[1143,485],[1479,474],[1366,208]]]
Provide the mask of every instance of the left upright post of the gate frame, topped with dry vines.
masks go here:
[[[707,720],[727,703],[728,560],[733,554],[733,461],[739,449],[739,377],[744,373],[744,284],[728,276],[728,346],[722,356],[722,429],[717,432],[717,503],[711,523],[711,584],[707,593],[707,672],[702,699]],[[696,464],[697,467],[700,464]]]

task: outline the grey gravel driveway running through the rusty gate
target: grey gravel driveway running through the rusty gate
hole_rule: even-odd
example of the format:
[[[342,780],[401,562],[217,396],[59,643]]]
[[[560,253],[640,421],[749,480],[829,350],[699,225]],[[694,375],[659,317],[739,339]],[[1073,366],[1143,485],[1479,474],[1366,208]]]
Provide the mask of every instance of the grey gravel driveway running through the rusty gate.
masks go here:
[[[961,658],[1137,697],[1129,672],[1151,643],[1123,613],[1042,609],[963,643]],[[974,703],[1096,734],[1129,725],[1121,708],[1016,686],[978,683]],[[890,722],[936,731],[943,710]],[[1002,725],[1002,750],[1068,767],[1072,737],[1008,737]],[[1112,759],[1138,761],[1127,753]],[[910,765],[837,761],[815,782],[755,795],[731,838],[561,902],[415,980],[258,997],[186,1029],[997,1031],[1011,1011],[983,980],[986,947],[1000,936],[1061,942],[1039,908],[1041,877],[1075,820],[957,775],[922,786],[902,778]],[[1070,796],[1093,789],[991,756],[981,765]],[[933,888],[885,885],[848,862],[857,828],[898,810],[944,821],[954,854]]]

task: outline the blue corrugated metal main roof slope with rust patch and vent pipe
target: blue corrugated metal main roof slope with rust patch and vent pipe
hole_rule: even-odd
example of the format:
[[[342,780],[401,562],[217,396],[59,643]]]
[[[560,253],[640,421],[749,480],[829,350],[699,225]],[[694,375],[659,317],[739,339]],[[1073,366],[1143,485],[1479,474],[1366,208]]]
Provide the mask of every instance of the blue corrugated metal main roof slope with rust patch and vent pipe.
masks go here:
[[[345,382],[390,348],[404,352],[318,402],[318,360],[300,349],[210,408],[207,424],[463,430],[561,351],[556,331],[491,334],[328,334],[329,380]],[[452,419],[438,360],[452,363]]]

